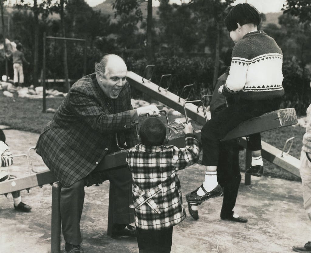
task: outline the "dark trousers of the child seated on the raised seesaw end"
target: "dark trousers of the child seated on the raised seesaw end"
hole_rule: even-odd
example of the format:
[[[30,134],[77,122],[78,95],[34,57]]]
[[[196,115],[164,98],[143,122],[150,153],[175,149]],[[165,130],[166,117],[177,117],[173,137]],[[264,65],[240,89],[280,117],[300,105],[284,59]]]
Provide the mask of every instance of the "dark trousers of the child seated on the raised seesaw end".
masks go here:
[[[281,98],[267,100],[243,100],[220,111],[201,130],[203,158],[202,164],[218,165],[220,140],[240,123],[264,113],[278,110]],[[248,149],[261,150],[260,133],[248,136]]]

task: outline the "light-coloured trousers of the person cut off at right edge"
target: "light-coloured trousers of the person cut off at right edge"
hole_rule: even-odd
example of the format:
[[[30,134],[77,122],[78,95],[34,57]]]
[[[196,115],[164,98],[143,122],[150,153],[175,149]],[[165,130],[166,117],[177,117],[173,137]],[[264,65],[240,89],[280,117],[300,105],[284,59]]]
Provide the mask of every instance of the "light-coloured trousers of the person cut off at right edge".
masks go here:
[[[309,153],[311,158],[311,154]],[[300,177],[302,181],[302,191],[304,198],[304,209],[311,219],[311,162],[309,161],[306,152],[301,150],[300,155]]]

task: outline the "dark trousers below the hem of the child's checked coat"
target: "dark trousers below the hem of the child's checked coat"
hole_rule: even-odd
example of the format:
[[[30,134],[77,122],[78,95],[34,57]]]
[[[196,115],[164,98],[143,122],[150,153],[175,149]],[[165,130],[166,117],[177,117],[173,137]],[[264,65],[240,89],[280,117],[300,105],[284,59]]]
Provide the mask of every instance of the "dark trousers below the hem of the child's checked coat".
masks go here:
[[[161,230],[136,228],[139,253],[169,253],[172,247],[173,227]]]

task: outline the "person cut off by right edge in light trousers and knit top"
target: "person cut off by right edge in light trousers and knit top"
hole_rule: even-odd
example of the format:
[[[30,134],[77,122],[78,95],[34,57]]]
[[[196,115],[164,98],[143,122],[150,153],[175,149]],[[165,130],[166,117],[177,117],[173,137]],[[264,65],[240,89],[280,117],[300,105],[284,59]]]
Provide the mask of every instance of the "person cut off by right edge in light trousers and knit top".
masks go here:
[[[302,143],[299,172],[302,182],[304,209],[311,220],[311,104],[307,109],[307,127]],[[308,241],[304,246],[293,246],[293,251],[311,253],[311,241]]]

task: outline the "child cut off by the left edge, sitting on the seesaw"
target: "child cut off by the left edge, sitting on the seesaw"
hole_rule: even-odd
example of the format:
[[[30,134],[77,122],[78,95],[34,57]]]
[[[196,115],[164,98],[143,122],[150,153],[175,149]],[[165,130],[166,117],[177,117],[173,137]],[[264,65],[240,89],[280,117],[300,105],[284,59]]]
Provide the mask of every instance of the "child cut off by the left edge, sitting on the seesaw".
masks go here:
[[[5,135],[3,131],[0,129],[0,155],[1,155],[1,163],[0,167],[7,167],[12,165],[13,159],[9,147],[5,144]],[[14,177],[14,176],[13,176]],[[0,168],[0,182],[6,180],[8,178],[7,171],[2,170]],[[21,201],[21,191],[13,191],[13,202],[14,209],[20,212],[30,212],[31,207],[29,205],[24,204]]]

